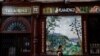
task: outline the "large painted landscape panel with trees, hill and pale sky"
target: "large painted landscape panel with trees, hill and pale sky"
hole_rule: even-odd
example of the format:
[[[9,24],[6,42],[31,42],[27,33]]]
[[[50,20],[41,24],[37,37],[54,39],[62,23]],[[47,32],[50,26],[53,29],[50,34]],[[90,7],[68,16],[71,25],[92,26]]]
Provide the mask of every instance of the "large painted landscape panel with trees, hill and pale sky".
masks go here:
[[[46,53],[57,55],[59,46],[63,55],[82,55],[81,16],[47,16]]]

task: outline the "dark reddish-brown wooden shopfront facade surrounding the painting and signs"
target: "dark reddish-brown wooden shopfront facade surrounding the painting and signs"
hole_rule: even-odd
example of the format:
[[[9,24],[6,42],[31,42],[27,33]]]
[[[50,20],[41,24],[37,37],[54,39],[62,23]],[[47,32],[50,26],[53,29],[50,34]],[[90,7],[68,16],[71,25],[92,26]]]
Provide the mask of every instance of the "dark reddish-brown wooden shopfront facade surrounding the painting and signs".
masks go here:
[[[27,14],[27,12],[26,14],[20,14],[20,13],[3,14],[2,8],[4,6],[19,7],[19,8],[30,7],[32,11],[30,14]],[[3,2],[0,2],[0,8],[1,8],[0,9],[1,12],[0,13],[0,50],[1,50],[0,55],[8,56],[10,55],[9,49],[13,49],[12,51],[16,52],[16,54],[11,54],[13,56],[14,55],[15,56],[52,56],[52,54],[51,55],[46,54],[46,16],[77,16],[77,15],[82,17],[83,56],[92,55],[90,54],[89,51],[90,44],[92,42],[91,40],[88,40],[90,39],[92,34],[89,33],[92,31],[91,29],[89,30],[88,21],[92,17],[99,18],[100,17],[99,13],[57,13],[57,14],[43,13],[43,8],[46,7],[73,8],[73,7],[82,7],[82,6],[100,6],[100,2],[97,1],[97,2],[41,3],[41,2],[30,2],[29,0],[20,0],[20,1],[4,0]],[[37,13],[33,13],[34,11],[33,7],[38,7],[39,10]],[[18,13],[18,11],[15,13]],[[15,26],[13,26],[14,24]],[[94,43],[96,43],[96,40],[94,41]],[[97,43],[99,43],[99,41],[97,41]],[[100,53],[93,54],[93,55],[100,55]]]

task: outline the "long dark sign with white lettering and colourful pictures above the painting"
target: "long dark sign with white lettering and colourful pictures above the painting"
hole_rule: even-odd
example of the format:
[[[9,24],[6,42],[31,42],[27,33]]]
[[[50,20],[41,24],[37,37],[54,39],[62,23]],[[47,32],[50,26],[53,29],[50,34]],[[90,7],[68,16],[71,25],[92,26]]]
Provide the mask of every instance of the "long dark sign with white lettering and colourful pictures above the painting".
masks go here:
[[[74,8],[46,7],[43,9],[43,14],[57,13],[100,13],[100,6],[82,6]]]

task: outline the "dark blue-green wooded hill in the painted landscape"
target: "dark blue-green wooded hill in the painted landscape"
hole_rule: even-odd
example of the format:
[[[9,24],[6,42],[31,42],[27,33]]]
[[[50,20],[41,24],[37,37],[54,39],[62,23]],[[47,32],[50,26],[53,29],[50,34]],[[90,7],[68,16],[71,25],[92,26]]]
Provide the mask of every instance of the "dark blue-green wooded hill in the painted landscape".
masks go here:
[[[51,42],[48,47],[52,49],[54,49],[55,47],[58,48],[59,45],[65,45],[66,41],[69,40],[68,37],[59,33],[49,34],[47,37],[48,42]]]

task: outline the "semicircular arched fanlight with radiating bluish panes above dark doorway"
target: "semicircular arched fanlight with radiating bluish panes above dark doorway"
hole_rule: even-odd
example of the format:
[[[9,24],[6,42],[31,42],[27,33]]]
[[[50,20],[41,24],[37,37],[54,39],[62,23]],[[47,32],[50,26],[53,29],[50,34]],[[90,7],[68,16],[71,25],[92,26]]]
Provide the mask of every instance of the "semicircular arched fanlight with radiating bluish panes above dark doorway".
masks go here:
[[[3,32],[30,32],[30,23],[24,17],[9,17],[3,24]]]

